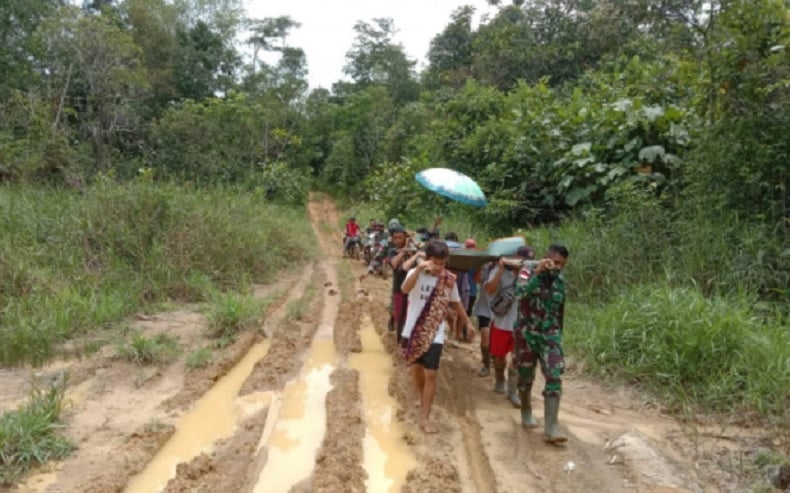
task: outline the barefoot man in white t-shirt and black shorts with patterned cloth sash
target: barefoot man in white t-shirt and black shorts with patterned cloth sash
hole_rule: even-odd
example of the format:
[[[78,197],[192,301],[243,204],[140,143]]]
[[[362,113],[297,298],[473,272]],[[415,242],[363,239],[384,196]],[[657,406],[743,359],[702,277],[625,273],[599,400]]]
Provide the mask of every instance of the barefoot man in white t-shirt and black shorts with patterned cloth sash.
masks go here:
[[[447,257],[450,250],[447,244],[442,241],[431,241],[425,250],[425,260],[417,267],[409,270],[406,279],[401,285],[401,291],[408,295],[408,309],[406,311],[406,323],[403,326],[401,335],[404,340],[408,340],[412,331],[420,321],[420,315],[431,298],[439,279],[449,273],[445,270]],[[466,315],[466,309],[461,303],[458,294],[458,287],[453,280],[449,294],[448,311],[453,310],[459,320],[464,321],[469,334],[474,334],[475,326]],[[446,315],[446,313],[445,313]],[[430,347],[425,350],[411,365],[414,389],[420,399],[420,428],[426,433],[435,433],[437,430],[430,422],[431,406],[436,395],[436,372],[439,369],[439,360],[442,356],[444,347],[444,335],[447,322],[442,320],[439,323],[436,334]],[[434,326],[435,327],[435,326]]]

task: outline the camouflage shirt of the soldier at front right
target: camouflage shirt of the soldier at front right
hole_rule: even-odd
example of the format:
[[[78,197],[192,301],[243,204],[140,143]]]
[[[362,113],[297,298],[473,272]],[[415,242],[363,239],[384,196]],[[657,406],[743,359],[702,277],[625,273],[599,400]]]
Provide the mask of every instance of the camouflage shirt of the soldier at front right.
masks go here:
[[[534,275],[526,267],[516,281],[519,302],[518,330],[531,332],[561,331],[565,314],[565,278],[562,274]]]

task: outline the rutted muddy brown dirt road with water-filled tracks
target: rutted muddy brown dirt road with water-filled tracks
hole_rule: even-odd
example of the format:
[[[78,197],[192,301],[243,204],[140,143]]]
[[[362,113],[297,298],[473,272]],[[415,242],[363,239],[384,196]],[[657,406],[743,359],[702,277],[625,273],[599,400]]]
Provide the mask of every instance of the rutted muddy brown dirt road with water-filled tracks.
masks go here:
[[[736,472],[719,467],[737,446],[692,439],[628,392],[584,380],[572,362],[560,414],[570,441],[545,444],[476,376],[472,344],[447,344],[439,433],[423,434],[387,332],[391,280],[357,280],[363,265],[341,258],[333,203],[315,196],[309,210],[322,255],[259,288],[269,300],[263,326],[207,368],[138,368],[105,347],[43,370],[69,371],[66,433],[78,448],[13,491],[741,491]],[[190,307],[135,321],[178,335],[186,351],[206,343],[205,323]],[[4,409],[23,398],[28,376],[0,375]]]

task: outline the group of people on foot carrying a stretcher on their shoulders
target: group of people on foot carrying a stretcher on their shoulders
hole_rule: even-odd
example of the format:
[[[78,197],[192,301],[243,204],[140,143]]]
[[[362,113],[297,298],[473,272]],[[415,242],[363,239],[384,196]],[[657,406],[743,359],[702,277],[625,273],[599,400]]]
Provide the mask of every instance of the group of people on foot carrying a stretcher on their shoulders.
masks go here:
[[[388,223],[393,271],[391,328],[399,339],[400,357],[410,365],[421,429],[436,432],[430,414],[445,340],[469,340],[479,330],[482,368],[478,375],[488,377],[493,364],[493,390],[520,408],[525,428],[536,428],[531,393],[540,364],[545,379],[545,439],[565,443],[567,437],[557,421],[565,367],[562,269],[568,249],[553,244],[535,260],[535,250],[522,246],[513,256],[459,272],[448,268],[448,243],[459,246],[457,237],[448,233],[447,241],[440,240],[439,223],[437,220],[431,230],[418,230],[423,240],[419,249],[397,219]],[[475,242],[469,239],[464,246],[474,248]],[[478,327],[471,316],[477,318]]]

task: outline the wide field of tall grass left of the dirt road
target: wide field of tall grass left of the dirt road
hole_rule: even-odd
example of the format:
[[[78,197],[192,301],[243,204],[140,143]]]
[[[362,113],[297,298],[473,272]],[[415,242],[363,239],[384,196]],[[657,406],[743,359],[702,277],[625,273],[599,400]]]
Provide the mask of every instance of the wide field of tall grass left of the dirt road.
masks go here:
[[[233,189],[0,187],[0,364],[165,300],[266,282],[314,255],[303,208]]]

